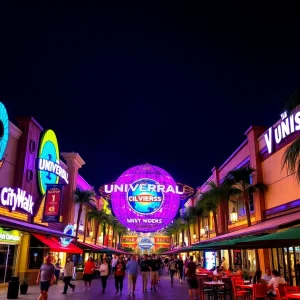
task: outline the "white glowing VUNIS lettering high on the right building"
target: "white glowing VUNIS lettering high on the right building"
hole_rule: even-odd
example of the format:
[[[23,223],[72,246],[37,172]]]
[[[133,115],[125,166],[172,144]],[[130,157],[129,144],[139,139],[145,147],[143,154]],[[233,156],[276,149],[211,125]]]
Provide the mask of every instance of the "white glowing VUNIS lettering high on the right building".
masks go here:
[[[271,154],[274,151],[274,142],[278,145],[284,138],[299,130],[300,111],[289,117],[287,117],[287,112],[282,113],[281,123],[276,128],[270,127],[264,135],[268,153]]]

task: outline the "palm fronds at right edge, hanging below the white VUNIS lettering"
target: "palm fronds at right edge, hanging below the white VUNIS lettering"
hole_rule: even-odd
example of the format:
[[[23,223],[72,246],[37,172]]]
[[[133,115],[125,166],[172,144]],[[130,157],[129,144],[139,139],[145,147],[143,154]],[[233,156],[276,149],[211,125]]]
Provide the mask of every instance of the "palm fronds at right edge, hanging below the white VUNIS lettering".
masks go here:
[[[296,172],[298,184],[300,183],[300,138],[296,138],[290,146],[288,146],[282,156],[281,170],[287,168],[290,174]]]

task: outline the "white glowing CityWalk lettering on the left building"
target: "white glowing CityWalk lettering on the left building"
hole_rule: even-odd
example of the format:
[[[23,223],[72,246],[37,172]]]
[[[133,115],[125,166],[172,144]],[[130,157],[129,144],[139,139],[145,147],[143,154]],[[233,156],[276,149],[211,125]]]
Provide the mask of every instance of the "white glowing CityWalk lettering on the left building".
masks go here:
[[[3,206],[9,207],[12,211],[17,208],[33,214],[32,196],[21,189],[4,187],[1,189],[0,201]]]

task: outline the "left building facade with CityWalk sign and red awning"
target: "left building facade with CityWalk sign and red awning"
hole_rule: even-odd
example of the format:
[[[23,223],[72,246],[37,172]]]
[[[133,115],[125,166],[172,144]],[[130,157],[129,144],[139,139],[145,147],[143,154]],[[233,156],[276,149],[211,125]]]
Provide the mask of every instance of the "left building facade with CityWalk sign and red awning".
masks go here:
[[[60,177],[57,181],[63,185],[59,216],[57,222],[43,220],[46,194],[41,189],[38,159],[47,131],[33,118],[19,118],[13,124],[9,114],[8,119],[3,118],[7,116],[3,107],[0,102],[0,264],[5,266],[0,270],[0,286],[6,285],[11,276],[26,278],[33,284],[48,252],[52,252],[56,260],[60,258],[63,264],[67,255],[72,255],[77,263],[96,255],[95,246],[103,244],[103,236],[99,234],[95,240],[95,224],[87,220],[86,215],[92,209],[101,209],[103,202],[99,197],[94,204],[83,208],[78,245],[74,240],[72,243],[72,239],[66,243],[70,234],[66,228],[74,230],[77,221],[74,191],[92,189],[79,175],[85,162],[78,153],[58,153],[60,159],[55,168],[59,172],[56,174],[64,174],[65,179]],[[18,201],[14,202],[15,199]],[[106,244],[112,246],[112,241],[108,239]]]

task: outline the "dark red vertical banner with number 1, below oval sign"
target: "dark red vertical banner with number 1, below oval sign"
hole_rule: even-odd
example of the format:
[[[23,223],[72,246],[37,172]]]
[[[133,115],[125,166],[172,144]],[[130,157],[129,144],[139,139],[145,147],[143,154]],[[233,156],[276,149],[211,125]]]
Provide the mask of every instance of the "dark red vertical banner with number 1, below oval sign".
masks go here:
[[[47,184],[43,222],[59,222],[62,191],[63,184]]]

